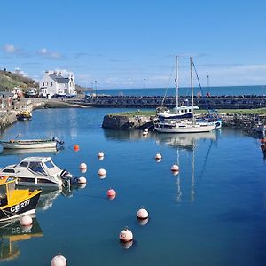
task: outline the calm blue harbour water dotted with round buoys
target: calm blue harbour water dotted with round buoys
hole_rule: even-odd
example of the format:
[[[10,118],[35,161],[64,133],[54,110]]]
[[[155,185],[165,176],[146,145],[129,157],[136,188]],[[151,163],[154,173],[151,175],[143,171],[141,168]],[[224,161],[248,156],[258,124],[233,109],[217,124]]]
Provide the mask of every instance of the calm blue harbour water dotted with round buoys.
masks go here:
[[[1,138],[7,139],[19,133],[56,136],[65,149],[3,154],[1,167],[26,156],[51,156],[74,176],[86,176],[88,184],[43,193],[36,212],[39,228],[32,232],[38,234],[12,242],[20,254],[0,264],[47,266],[60,252],[67,265],[265,265],[266,163],[258,139],[233,130],[143,137],[141,131],[101,128],[106,113],[121,111],[36,110],[32,121],[4,131]],[[104,160],[98,160],[99,151]],[[156,153],[162,154],[160,163]],[[176,161],[180,173],[173,176]],[[88,165],[85,174],[79,171],[81,162]],[[106,168],[105,179],[99,179],[99,168]],[[106,199],[110,187],[117,192],[114,200]],[[136,219],[141,206],[150,213],[145,226]],[[118,240],[126,225],[134,234],[128,249]],[[9,235],[1,230],[5,241],[12,241]]]

